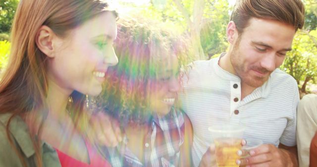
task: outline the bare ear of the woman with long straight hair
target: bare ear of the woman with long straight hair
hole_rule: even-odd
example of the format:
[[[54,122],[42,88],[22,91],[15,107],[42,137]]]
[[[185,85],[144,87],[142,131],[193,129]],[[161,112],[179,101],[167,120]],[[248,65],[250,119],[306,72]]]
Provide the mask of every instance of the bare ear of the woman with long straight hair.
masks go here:
[[[35,39],[38,48],[51,58],[54,57],[53,39],[55,37],[55,33],[50,27],[41,26]]]

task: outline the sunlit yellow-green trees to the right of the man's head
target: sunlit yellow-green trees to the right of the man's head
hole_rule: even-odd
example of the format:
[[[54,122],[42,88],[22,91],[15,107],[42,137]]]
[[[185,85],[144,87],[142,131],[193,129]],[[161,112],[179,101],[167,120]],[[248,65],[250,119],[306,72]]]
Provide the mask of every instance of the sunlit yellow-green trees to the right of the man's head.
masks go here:
[[[280,67],[295,78],[301,94],[310,93],[310,85],[317,82],[317,1],[304,2],[305,27],[297,32],[293,50],[287,53]]]

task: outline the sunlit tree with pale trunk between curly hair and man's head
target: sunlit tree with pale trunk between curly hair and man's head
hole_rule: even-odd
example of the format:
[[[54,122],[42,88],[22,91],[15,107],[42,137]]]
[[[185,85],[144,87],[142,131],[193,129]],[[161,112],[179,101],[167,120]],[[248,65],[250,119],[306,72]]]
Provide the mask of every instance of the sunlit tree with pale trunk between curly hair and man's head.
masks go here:
[[[196,59],[209,59],[226,49],[224,32],[230,9],[227,0],[151,0],[151,4],[157,18],[172,22],[190,37],[188,44]]]

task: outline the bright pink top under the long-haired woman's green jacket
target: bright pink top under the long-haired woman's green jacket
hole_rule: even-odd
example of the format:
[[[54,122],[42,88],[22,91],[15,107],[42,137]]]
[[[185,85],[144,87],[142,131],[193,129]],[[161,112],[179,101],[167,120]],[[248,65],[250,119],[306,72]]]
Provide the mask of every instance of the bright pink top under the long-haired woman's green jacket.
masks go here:
[[[111,167],[111,165],[94,149],[89,142],[86,142],[90,164],[78,161],[67,154],[57,150],[61,167]]]

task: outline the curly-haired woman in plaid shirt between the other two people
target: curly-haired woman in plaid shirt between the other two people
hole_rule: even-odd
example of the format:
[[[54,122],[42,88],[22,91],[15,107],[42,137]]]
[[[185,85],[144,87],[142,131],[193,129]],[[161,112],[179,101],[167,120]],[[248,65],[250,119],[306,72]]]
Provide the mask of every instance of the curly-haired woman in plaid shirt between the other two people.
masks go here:
[[[107,71],[96,100],[122,129],[122,142],[104,150],[113,167],[190,166],[191,124],[174,107],[180,69],[190,61],[181,41],[153,21],[118,21],[119,63]]]

